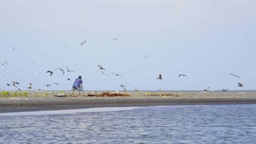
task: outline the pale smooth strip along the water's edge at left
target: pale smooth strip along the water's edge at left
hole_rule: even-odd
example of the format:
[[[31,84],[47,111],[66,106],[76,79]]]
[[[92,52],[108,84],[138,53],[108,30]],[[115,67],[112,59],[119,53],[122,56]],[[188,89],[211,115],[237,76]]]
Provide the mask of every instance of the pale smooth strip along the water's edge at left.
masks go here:
[[[54,111],[27,111],[27,112],[7,112],[0,113],[0,116],[34,116],[34,115],[55,115],[82,112],[105,112],[105,111],[124,111],[133,110],[139,107],[95,107],[89,109],[72,109],[72,110],[54,110]]]

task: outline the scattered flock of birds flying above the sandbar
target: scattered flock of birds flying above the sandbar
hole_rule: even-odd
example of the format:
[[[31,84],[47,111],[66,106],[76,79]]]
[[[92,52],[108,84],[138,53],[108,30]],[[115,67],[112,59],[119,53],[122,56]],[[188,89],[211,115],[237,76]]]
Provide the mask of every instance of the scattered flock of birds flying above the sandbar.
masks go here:
[[[118,38],[114,38],[113,41],[114,41],[114,40],[118,40]],[[87,41],[87,40],[84,40],[84,41],[80,44],[80,46],[82,46],[83,44],[85,44],[86,41]],[[42,44],[42,43],[40,43],[40,44]],[[18,49],[18,47],[14,45],[14,46],[13,46],[13,50],[15,50],[15,49]],[[173,49],[171,49],[171,50],[172,50],[172,51],[175,51],[175,50],[173,50]],[[43,57],[43,56],[44,56],[44,55],[40,55],[40,57]],[[150,56],[150,54],[148,54],[146,57],[144,57],[144,59],[149,58],[149,56]],[[8,57],[8,56],[7,56],[7,57]],[[5,58],[7,58],[7,57],[1,58],[1,59],[2,59],[2,63],[1,63],[1,67],[2,67],[2,68],[4,68],[4,66],[8,64],[8,61],[5,60]],[[33,63],[35,64],[35,63],[37,63],[37,62],[33,62]],[[98,65],[98,68],[99,68],[98,70],[101,70],[101,73],[104,74],[104,75],[109,76],[109,74],[112,74],[112,75],[115,75],[115,76],[124,77],[124,75],[117,74],[117,73],[109,73],[109,74],[107,74],[107,73],[106,73],[106,69],[103,68],[101,65]],[[25,69],[22,69],[22,70],[25,70]],[[62,76],[65,74],[65,70],[62,69],[62,68],[55,68],[54,71],[55,71],[55,70],[60,70],[60,71],[62,72]],[[66,65],[66,71],[67,71],[67,73],[75,72],[74,70],[69,70],[68,67],[67,67],[67,65]],[[49,76],[52,76],[52,75],[54,74],[53,70],[47,70],[46,73],[49,73],[49,74],[50,74]],[[33,73],[33,75],[34,75],[34,74],[36,74],[36,73]],[[234,76],[234,77],[240,78],[240,76],[237,76],[237,75],[234,75],[234,74],[231,74],[231,73],[229,73],[229,74],[232,75],[232,76]],[[3,76],[4,76],[4,75],[0,75],[0,80],[1,80],[1,77],[3,77]],[[180,74],[180,75],[178,75],[178,77],[181,77],[181,76],[187,77],[187,79],[188,79],[188,76],[185,75],[185,74]],[[71,81],[69,78],[68,78],[67,80],[68,80],[68,81]],[[161,81],[162,81],[162,75],[159,74],[159,76],[156,78],[156,80],[161,80]],[[13,82],[11,82],[11,83],[12,83],[12,85],[13,85],[14,87],[16,87],[16,88],[18,88],[17,85],[20,84],[20,83],[17,82],[17,81],[13,81]],[[59,86],[59,84],[58,84],[57,82],[53,83],[53,85]],[[7,86],[11,86],[11,84],[7,83]],[[52,86],[52,85],[51,85],[50,83],[46,83],[44,86],[49,87],[49,86]],[[237,86],[238,86],[238,87],[243,87],[243,84],[242,84],[242,83],[238,83]],[[125,85],[121,84],[120,87],[122,87],[122,88],[124,89],[124,91],[126,92],[126,86],[125,86]],[[33,91],[37,91],[36,88],[32,87],[32,83],[30,83],[29,86],[26,87],[26,88],[27,88],[27,89],[33,89]],[[207,87],[206,89],[203,89],[203,91],[204,91],[204,92],[207,92],[207,91],[209,91],[209,89],[210,89],[210,87]],[[1,88],[0,88],[0,90],[1,90]],[[22,91],[20,88],[18,88],[18,90],[19,90],[19,91]],[[38,91],[42,91],[42,89],[41,89],[41,88],[38,88]],[[137,91],[137,92],[138,92],[139,90],[138,90],[136,87],[134,87],[134,91]],[[162,92],[162,91],[164,91],[164,90],[160,88],[160,89],[158,89],[158,91]],[[228,88],[222,89],[222,91],[228,91]],[[213,91],[210,91],[210,92],[213,92]]]

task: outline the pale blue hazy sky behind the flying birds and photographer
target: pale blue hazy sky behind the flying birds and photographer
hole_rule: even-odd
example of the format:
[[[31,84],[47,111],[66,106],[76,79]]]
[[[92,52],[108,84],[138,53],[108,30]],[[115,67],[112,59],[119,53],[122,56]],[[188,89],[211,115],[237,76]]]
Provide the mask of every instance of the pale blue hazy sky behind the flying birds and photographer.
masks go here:
[[[0,57],[9,56],[0,88],[15,90],[6,83],[18,81],[22,90],[29,83],[70,90],[81,75],[88,90],[254,90],[255,7],[249,0],[0,1]],[[77,72],[54,71],[66,65]],[[103,75],[97,65],[125,77]],[[155,80],[160,73],[163,81]]]

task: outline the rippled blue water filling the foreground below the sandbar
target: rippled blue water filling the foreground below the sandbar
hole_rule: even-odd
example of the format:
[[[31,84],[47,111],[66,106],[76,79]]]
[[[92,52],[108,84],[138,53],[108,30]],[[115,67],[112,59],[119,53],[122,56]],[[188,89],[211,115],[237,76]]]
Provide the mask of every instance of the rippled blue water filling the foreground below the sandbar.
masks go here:
[[[106,110],[108,108],[105,108]],[[256,105],[0,116],[0,143],[255,143]]]

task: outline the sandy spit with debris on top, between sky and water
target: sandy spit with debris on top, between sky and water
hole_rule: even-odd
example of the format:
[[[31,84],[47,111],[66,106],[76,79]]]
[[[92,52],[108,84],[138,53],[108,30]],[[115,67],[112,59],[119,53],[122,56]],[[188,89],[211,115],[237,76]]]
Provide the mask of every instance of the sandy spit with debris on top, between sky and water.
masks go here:
[[[25,96],[0,97],[0,112],[86,109],[90,107],[156,106],[156,105],[212,105],[256,104],[256,93],[229,92],[127,92],[126,97],[98,97],[102,92],[81,95],[58,92],[28,92]],[[96,95],[96,96],[88,96]]]

